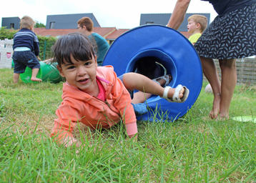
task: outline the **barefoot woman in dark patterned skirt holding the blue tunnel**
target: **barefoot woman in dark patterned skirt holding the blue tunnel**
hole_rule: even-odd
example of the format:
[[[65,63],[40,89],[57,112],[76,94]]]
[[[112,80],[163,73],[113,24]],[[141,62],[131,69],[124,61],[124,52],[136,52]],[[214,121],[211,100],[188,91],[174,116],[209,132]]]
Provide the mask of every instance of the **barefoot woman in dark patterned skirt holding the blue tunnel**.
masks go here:
[[[237,84],[235,60],[256,55],[256,0],[209,1],[218,16],[195,44],[203,72],[212,86],[214,100],[209,117],[229,119],[232,95]],[[190,0],[177,0],[167,26],[178,29]],[[218,59],[222,81],[213,59]]]

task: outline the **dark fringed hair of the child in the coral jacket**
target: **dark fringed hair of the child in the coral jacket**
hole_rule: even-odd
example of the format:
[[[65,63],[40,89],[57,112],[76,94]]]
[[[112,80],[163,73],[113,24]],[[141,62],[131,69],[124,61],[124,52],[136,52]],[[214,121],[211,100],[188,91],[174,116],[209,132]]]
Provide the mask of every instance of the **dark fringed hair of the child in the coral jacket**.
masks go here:
[[[59,66],[64,64],[64,61],[74,64],[71,56],[77,61],[87,61],[95,55],[92,41],[87,35],[78,32],[61,36],[51,49],[54,52],[53,62],[57,62]]]

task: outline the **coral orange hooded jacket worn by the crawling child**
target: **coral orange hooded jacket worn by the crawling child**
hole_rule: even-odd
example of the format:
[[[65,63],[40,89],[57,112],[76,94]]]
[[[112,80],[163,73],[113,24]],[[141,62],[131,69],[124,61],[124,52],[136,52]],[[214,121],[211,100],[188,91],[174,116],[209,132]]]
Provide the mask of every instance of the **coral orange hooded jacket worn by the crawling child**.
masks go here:
[[[112,66],[99,66],[97,79],[106,90],[106,101],[91,96],[67,82],[63,84],[62,102],[56,110],[58,119],[54,120],[51,137],[70,138],[77,122],[95,129],[109,128],[120,119],[124,124],[137,122],[132,107],[132,99],[124,84],[117,78]],[[136,126],[137,131],[137,124]]]

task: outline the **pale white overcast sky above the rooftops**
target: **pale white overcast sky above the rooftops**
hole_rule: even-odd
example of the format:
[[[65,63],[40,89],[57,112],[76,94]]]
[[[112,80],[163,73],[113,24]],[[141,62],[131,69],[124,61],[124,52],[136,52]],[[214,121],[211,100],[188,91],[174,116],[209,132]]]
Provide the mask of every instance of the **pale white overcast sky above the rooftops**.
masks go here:
[[[139,26],[140,14],[169,14],[175,3],[176,0],[3,0],[0,16],[21,19],[28,15],[45,25],[47,15],[92,13],[102,27],[132,29]],[[217,16],[209,2],[200,0],[191,0],[187,13],[210,13],[210,22]]]

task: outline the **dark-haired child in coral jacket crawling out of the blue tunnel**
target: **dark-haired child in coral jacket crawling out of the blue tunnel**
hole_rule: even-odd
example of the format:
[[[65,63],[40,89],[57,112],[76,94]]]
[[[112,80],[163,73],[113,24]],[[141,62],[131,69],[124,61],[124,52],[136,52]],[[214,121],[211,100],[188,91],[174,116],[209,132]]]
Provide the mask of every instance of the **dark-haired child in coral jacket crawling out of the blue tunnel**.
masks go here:
[[[61,36],[52,49],[57,69],[67,81],[63,84],[63,101],[56,110],[58,118],[54,120],[51,137],[66,147],[73,143],[79,147],[72,136],[77,122],[94,129],[108,129],[122,120],[127,135],[137,139],[137,119],[129,91],[137,89],[159,95],[169,102],[184,102],[189,94],[182,85],[176,89],[163,88],[142,74],[117,77],[112,66],[97,66],[92,43],[77,32]]]

